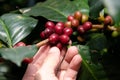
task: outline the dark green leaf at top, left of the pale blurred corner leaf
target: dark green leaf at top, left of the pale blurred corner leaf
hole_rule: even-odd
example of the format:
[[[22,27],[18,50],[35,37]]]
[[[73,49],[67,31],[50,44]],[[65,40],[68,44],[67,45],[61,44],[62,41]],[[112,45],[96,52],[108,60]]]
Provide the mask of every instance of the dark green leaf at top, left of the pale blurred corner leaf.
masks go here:
[[[100,14],[100,11],[104,8],[102,0],[89,0],[90,6],[90,17],[97,18]]]

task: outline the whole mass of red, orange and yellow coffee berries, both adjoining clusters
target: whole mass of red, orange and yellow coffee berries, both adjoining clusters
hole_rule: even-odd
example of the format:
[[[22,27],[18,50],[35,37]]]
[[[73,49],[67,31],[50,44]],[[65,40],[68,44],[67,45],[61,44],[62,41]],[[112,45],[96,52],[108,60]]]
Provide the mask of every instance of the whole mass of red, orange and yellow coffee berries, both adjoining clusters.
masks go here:
[[[51,45],[61,47],[68,44],[70,36],[74,31],[83,34],[92,28],[92,23],[88,21],[88,16],[76,11],[74,15],[69,15],[65,23],[54,23],[48,21],[45,24],[45,30],[40,33],[42,39],[49,39]]]

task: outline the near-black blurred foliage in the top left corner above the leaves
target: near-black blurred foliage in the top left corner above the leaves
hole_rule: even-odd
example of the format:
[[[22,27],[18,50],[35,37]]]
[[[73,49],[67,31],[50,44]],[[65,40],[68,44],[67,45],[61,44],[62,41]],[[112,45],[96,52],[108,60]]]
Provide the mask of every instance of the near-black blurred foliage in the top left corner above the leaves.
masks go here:
[[[0,15],[19,8],[31,7],[45,0],[0,0]]]

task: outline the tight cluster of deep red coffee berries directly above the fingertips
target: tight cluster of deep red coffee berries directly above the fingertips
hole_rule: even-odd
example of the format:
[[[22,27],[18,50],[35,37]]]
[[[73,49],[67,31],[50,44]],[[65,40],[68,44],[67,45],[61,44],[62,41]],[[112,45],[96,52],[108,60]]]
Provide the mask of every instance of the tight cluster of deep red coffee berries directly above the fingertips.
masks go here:
[[[63,45],[68,44],[70,36],[73,33],[71,27],[65,27],[63,22],[54,23],[48,21],[45,24],[45,30],[40,33],[42,39],[49,39],[51,45],[62,48]]]

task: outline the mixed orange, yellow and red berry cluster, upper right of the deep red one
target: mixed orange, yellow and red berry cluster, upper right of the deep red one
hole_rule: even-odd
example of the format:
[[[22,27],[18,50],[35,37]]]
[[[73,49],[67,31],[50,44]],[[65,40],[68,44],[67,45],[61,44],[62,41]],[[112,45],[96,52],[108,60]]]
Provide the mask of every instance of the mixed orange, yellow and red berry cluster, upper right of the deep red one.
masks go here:
[[[73,15],[67,17],[65,27],[72,27],[74,30],[78,31],[79,34],[83,34],[92,28],[92,23],[88,21],[87,15],[76,11]]]

